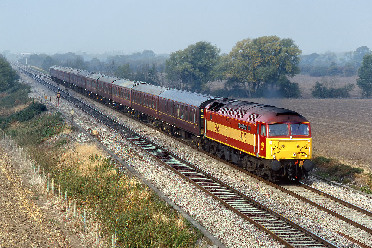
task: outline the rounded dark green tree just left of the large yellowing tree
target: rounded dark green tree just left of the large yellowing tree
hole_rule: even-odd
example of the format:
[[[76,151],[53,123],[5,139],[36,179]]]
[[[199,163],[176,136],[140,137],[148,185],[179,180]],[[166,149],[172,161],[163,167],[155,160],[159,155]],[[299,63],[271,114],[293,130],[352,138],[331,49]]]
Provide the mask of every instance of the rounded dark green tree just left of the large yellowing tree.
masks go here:
[[[183,83],[186,90],[200,91],[214,78],[219,52],[217,46],[203,41],[171,53],[165,64],[167,79]]]

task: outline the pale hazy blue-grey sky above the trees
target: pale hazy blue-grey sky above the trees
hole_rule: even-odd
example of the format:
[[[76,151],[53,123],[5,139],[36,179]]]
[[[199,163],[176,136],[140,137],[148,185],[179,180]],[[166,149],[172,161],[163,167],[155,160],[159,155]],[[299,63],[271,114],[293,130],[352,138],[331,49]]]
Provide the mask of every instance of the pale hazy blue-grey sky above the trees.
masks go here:
[[[370,0],[1,0],[0,53],[171,53],[291,38],[302,54],[372,49]]]

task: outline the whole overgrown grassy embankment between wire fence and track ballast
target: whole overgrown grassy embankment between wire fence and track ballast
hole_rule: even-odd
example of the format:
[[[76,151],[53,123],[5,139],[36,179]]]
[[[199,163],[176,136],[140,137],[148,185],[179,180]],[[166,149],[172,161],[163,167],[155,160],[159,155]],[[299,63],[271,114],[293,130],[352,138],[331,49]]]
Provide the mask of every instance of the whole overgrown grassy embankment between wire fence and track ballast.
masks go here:
[[[57,222],[68,224],[81,244],[89,247],[107,247],[112,239],[128,247],[195,245],[202,235],[182,215],[138,180],[118,173],[109,156],[95,143],[78,138],[78,131],[65,125],[60,113],[45,111],[45,105],[32,99],[22,102],[28,98],[23,92],[29,93],[25,85],[3,94],[0,108],[1,102],[12,101],[15,109],[1,108],[1,128],[17,144],[13,153],[16,150],[20,155],[22,149],[34,164],[24,171],[36,187],[32,201],[42,198]],[[15,233],[15,228],[9,231],[9,235]]]

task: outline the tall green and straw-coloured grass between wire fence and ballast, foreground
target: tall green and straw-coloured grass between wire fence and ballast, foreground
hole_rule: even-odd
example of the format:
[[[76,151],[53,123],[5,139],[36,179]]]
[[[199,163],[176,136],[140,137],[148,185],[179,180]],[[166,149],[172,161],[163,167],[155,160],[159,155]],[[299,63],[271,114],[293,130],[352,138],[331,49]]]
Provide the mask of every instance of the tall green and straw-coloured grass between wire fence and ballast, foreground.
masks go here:
[[[178,220],[179,213],[154,192],[118,174],[108,158],[92,155],[67,165],[62,156],[50,156],[58,154],[50,148],[32,153],[51,173],[55,185],[60,184],[71,199],[77,199],[77,207],[97,209],[102,233],[105,237],[115,234],[118,247],[194,247],[201,237],[184,219]],[[82,167],[87,168],[84,173]]]

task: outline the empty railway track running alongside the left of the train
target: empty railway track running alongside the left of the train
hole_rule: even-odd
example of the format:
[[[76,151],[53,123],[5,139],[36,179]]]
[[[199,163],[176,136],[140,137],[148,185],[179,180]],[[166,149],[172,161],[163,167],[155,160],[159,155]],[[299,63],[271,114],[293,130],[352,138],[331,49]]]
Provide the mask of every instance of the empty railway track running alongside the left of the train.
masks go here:
[[[47,86],[49,89],[55,92],[59,90],[59,92],[61,92],[61,96],[66,100],[93,116],[109,128],[115,130],[125,139],[154,156],[155,159],[166,165],[172,171],[187,179],[198,188],[205,191],[208,195],[211,195],[229,209],[242,216],[244,219],[250,221],[263,231],[272,235],[272,237],[276,238],[279,242],[287,247],[337,247],[329,241],[305,229],[301,225],[296,224],[285,216],[280,215],[260,202],[257,202],[253,198],[250,198],[243,192],[238,191],[237,189],[220,181],[197,166],[178,157],[174,153],[167,151],[167,149],[162,148],[144,136],[121,125],[105,114],[72,97],[67,92],[64,92],[58,89],[58,87],[45,82],[45,80],[32,75],[32,73],[27,72],[23,68],[21,68],[21,70],[23,70],[25,73],[28,73],[29,76]]]

